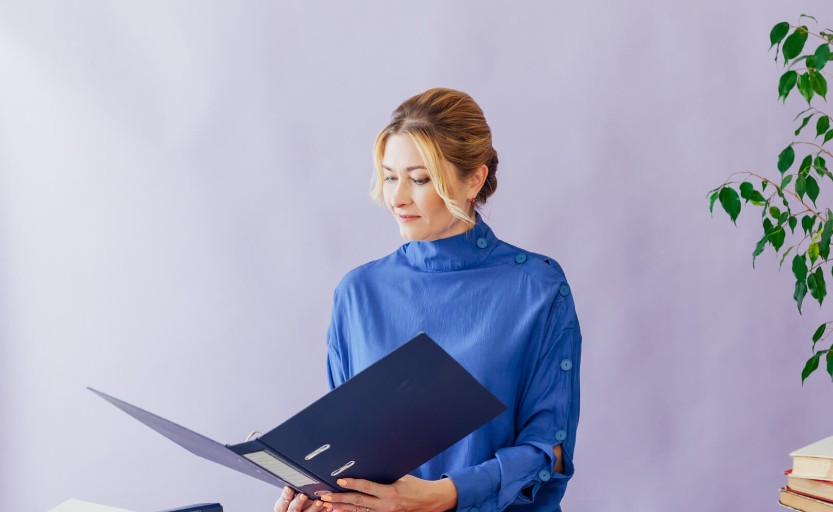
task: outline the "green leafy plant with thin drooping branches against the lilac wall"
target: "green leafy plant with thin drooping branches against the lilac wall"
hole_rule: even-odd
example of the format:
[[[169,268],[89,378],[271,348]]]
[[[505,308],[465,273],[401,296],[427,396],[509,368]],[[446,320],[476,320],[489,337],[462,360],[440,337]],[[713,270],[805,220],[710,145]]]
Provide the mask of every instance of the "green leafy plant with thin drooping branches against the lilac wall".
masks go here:
[[[746,204],[751,203],[763,207],[761,222],[764,227],[764,234],[756,244],[755,251],[752,252],[752,268],[755,268],[755,258],[764,252],[767,245],[771,245],[778,254],[779,249],[785,243],[787,227],[789,227],[791,235],[795,235],[795,229],[799,222],[798,217],[803,214],[801,230],[804,233],[804,238],[798,244],[792,245],[784,251],[781,256],[781,263],[778,266],[779,271],[781,271],[781,265],[784,264],[787,254],[790,254],[792,249],[796,249],[792,258],[792,273],[796,276],[796,289],[793,298],[796,300],[799,314],[801,314],[801,303],[808,291],[811,297],[819,302],[821,308],[821,303],[827,295],[825,273],[822,270],[822,265],[833,261],[833,259],[828,260],[831,250],[831,234],[833,234],[833,212],[829,208],[821,211],[816,205],[819,185],[824,177],[827,176],[833,181],[833,175],[827,170],[825,160],[825,155],[831,158],[833,158],[833,155],[831,155],[830,150],[826,150],[824,147],[829,140],[833,139],[833,129],[831,129],[831,115],[813,106],[814,99],[816,105],[820,103],[818,101],[819,97],[824,100],[825,106],[827,103],[827,80],[825,77],[833,78],[833,75],[831,75],[833,64],[830,64],[827,68],[825,66],[828,62],[833,61],[833,55],[831,55],[833,30],[825,29],[819,33],[811,32],[806,25],[801,25],[801,18],[804,17],[816,21],[815,17],[802,14],[798,18],[797,25],[781,22],[772,27],[770,32],[770,50],[772,47],[776,47],[776,62],[778,62],[778,52],[781,50],[783,67],[787,70],[778,81],[778,99],[783,99],[786,104],[786,97],[793,88],[796,88],[801,96],[804,96],[808,105],[808,108],[801,111],[793,120],[794,122],[798,121],[801,116],[804,116],[795,131],[795,138],[778,155],[777,168],[781,173],[779,179],[770,180],[751,172],[735,172],[729,176],[723,185],[708,192],[710,194],[709,211],[712,212],[715,201],[720,200],[721,206],[736,226],[735,221],[741,213],[741,199],[745,199]],[[792,32],[790,33],[791,29]],[[814,52],[800,56],[799,54],[801,54],[810,36],[814,37],[811,41],[816,41],[815,38],[818,38],[821,40],[821,44],[815,48]],[[793,69],[795,66],[798,67]],[[816,136],[813,140],[796,140],[801,135],[801,131],[814,118]],[[806,136],[804,135],[802,138],[806,138]],[[819,140],[820,137],[821,140]],[[796,162],[794,146],[800,146],[802,149],[805,147],[811,148],[811,151],[801,160],[797,171],[791,174],[788,171],[795,170],[793,164]],[[818,180],[813,175],[814,172],[818,176]],[[746,177],[741,182],[730,181],[732,176],[735,175],[746,175]],[[756,183],[760,180],[760,190],[756,189],[755,184],[749,181],[753,179],[756,180]],[[732,187],[733,184],[738,184],[737,190]],[[772,185],[774,189],[768,197],[764,195],[767,185]],[[772,204],[778,202],[776,194],[781,198],[785,211],[781,211],[776,204]],[[790,196],[790,200],[787,199],[787,195]],[[808,202],[812,202],[813,208],[805,202],[806,199],[809,199]],[[804,209],[796,213],[793,211],[791,203],[797,209]],[[798,206],[798,204],[801,206]],[[798,236],[801,236],[801,232]],[[804,249],[801,249],[801,244],[807,239],[810,239],[810,243]],[[807,264],[808,260],[810,262],[809,266]],[[833,265],[831,265],[831,272],[833,272]],[[822,357],[826,359],[827,372],[833,380],[833,347],[816,350],[816,345],[819,342],[825,342],[830,332],[833,332],[833,326],[829,325],[831,323],[833,323],[833,320],[822,323],[813,332],[812,355],[807,360],[804,370],[801,371],[801,386],[804,386],[805,379],[819,367]]]

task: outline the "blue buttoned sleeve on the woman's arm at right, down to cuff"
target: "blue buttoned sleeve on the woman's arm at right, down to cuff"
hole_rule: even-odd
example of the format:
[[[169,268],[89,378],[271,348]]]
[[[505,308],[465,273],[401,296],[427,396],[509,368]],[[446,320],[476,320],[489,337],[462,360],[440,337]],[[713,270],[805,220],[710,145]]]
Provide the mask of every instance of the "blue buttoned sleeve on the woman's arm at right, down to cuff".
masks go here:
[[[456,512],[500,512],[535,500],[541,485],[566,485],[574,472],[579,412],[581,332],[572,298],[556,299],[547,322],[544,353],[521,397],[514,446],[478,465],[450,470]],[[553,448],[561,444],[564,473],[555,473]]]

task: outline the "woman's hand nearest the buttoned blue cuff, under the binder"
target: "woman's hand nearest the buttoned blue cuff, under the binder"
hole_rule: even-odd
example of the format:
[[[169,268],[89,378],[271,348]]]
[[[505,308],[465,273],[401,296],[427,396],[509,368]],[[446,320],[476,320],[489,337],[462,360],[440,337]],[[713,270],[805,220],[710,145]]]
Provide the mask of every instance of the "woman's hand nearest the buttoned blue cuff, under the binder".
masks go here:
[[[457,505],[457,490],[449,478],[422,480],[405,475],[392,485],[357,478],[340,478],[338,485],[358,492],[332,493],[321,500],[346,512],[441,512]]]

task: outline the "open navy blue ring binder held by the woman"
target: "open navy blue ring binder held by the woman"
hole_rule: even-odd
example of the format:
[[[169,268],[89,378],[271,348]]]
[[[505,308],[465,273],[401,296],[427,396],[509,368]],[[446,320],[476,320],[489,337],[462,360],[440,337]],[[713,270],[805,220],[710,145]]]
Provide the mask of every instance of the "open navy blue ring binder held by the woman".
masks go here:
[[[342,477],[392,484],[507,410],[425,332],[281,425],[237,445],[221,445],[87,389],[196,455],[318,496],[342,490],[336,483]]]

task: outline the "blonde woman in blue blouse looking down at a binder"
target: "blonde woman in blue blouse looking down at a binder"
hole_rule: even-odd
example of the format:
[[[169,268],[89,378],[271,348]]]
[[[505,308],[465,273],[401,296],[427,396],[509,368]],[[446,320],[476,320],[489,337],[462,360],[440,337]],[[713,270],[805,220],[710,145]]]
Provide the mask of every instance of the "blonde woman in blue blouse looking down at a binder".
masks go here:
[[[558,263],[498,239],[475,209],[497,185],[480,107],[445,88],[413,96],[377,136],[373,157],[372,197],[409,242],[338,284],[330,389],[425,331],[509,411],[392,485],[347,478],[343,492],[317,500],[287,488],[276,512],[561,510],[581,332]]]

